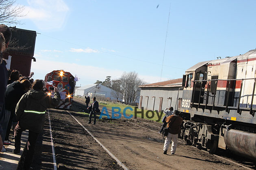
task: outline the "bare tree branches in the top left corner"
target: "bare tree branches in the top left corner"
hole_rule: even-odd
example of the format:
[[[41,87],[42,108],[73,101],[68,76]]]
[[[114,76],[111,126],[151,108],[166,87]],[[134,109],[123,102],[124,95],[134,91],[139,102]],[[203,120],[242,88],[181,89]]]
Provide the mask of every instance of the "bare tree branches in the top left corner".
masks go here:
[[[0,23],[17,24],[17,17],[24,17],[24,6],[14,5],[16,0],[0,0]]]

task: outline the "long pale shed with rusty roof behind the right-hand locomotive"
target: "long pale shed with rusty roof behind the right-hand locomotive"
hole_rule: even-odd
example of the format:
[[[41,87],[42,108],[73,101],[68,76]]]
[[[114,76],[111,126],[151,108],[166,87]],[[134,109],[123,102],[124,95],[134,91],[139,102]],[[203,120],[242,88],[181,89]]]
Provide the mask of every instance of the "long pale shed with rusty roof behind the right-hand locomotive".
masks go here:
[[[172,106],[175,109],[181,103],[182,98],[182,79],[173,79],[140,85],[141,94],[139,108],[144,110],[164,110]]]

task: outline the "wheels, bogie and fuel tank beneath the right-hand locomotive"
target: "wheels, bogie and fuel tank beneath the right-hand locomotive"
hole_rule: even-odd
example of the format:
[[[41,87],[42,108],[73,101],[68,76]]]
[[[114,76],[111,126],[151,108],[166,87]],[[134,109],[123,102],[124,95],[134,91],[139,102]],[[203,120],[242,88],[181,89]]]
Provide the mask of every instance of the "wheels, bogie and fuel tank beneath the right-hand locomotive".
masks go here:
[[[196,146],[198,149],[207,149],[209,153],[215,153],[217,148],[221,148],[242,153],[245,157],[248,157],[248,152],[250,152],[249,158],[255,156],[253,152],[256,127],[253,124],[223,121],[223,119],[200,115],[189,118],[188,113],[182,114],[187,120],[185,119],[182,124],[179,138],[185,140],[187,144]],[[243,138],[243,142],[239,142],[240,138]]]

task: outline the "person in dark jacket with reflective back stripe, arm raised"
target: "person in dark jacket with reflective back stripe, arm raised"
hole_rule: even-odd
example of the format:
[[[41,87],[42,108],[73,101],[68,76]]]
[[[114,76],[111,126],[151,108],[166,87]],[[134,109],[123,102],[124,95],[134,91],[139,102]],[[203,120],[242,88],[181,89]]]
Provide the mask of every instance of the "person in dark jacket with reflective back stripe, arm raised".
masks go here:
[[[54,108],[60,103],[60,94],[54,87],[54,98],[43,92],[43,81],[35,80],[32,90],[22,96],[15,110],[18,124],[14,129],[15,149],[13,153],[20,153],[20,139],[22,131],[29,130],[27,154],[24,160],[24,169],[29,170],[35,152],[35,144],[40,132],[43,131],[47,108]]]

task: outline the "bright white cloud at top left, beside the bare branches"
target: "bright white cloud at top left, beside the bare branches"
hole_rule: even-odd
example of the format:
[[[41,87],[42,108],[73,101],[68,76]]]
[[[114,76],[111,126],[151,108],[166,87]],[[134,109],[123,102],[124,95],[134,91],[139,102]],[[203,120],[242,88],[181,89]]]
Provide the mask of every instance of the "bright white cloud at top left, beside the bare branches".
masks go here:
[[[41,30],[59,29],[65,23],[69,8],[63,0],[28,0],[23,19],[31,19]]]

